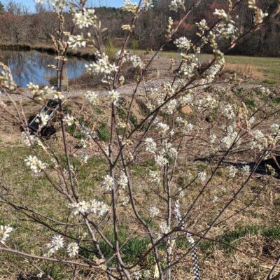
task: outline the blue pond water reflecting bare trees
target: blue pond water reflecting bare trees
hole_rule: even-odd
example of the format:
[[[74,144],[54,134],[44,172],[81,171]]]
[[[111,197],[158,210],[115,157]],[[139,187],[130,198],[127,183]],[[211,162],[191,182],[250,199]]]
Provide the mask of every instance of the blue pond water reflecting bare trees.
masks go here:
[[[22,87],[27,87],[29,82],[50,85],[50,78],[56,76],[56,71],[48,67],[55,64],[55,56],[44,52],[0,50],[0,60],[10,67],[15,83]],[[68,57],[67,78],[78,78],[85,69],[85,62],[84,59]]]

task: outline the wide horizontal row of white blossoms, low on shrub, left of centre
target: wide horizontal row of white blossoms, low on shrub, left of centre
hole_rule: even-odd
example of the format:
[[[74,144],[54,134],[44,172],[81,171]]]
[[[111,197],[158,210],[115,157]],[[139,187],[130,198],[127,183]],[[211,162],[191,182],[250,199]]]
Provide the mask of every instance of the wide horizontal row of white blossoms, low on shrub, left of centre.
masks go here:
[[[103,216],[109,211],[109,207],[104,202],[99,202],[98,200],[90,200],[85,202],[73,202],[69,205],[69,208],[73,211],[74,215],[78,214],[96,214],[97,216]]]

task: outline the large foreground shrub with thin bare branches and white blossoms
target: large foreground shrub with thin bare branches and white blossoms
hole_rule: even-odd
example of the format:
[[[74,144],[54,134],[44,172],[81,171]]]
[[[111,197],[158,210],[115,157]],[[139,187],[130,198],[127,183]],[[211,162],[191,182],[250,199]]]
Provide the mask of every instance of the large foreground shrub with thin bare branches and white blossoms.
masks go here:
[[[31,151],[25,160],[27,167],[30,167],[36,176],[45,176],[57,195],[66,201],[61,205],[61,209],[59,205],[53,206],[61,211],[63,219],[60,222],[53,221],[48,214],[35,212],[31,206],[20,207],[3,195],[4,203],[45,228],[43,234],[48,232],[45,235],[48,243],[36,253],[21,251],[18,246],[13,248],[12,240],[18,230],[14,229],[9,237],[12,228],[1,225],[0,241],[3,246],[0,246],[0,251],[15,253],[27,259],[62,262],[67,269],[71,269],[73,275],[83,274],[86,279],[87,277],[92,279],[98,273],[108,279],[176,279],[181,262],[193,254],[191,261],[193,263],[188,264],[188,267],[193,267],[191,270],[194,279],[200,279],[197,260],[199,245],[204,239],[210,238],[209,232],[217,223],[223,223],[220,221],[221,216],[248,185],[261,160],[273,155],[280,140],[279,124],[272,125],[273,134],[264,134],[255,129],[254,117],[249,115],[244,104],[237,106],[219,100],[218,88],[214,90],[214,94],[207,94],[207,88],[215,83],[218,73],[225,64],[223,52],[219,49],[220,40],[228,40],[228,48],[233,48],[239,38],[245,35],[238,29],[235,22],[238,18],[233,13],[241,1],[236,1],[235,5],[232,5],[232,1],[229,2],[227,11],[215,10],[216,23],[211,27],[206,20],[195,24],[197,41],[192,42],[185,36],[174,41],[181,51],[179,68],[173,73],[172,79],[167,80],[162,87],[145,88],[147,113],[132,127],[130,125],[132,106],[139,94],[139,85],[144,81],[144,74],[158,52],[169,41],[174,40],[179,27],[200,1],[195,1],[190,9],[186,8],[185,1],[170,2],[169,9],[172,13],[178,13],[177,16],[180,16],[181,20],[174,26],[174,20],[169,18],[166,23],[166,40],[148,62],[130,54],[126,48],[137,25],[137,18],[146,10],[153,8],[153,1],[132,3],[125,0],[122,9],[132,13],[132,22],[120,27],[127,35],[123,48],[116,54],[116,62],[111,62],[109,56],[104,53],[101,43],[104,29],[94,9],[85,7],[85,0],[50,1],[59,18],[57,34],[52,37],[57,48],[57,65],[50,65],[57,70],[58,88],[41,89],[38,85],[29,83],[28,89],[34,102],[45,102],[49,98],[59,102],[57,117],[62,130],[63,151],[56,152],[39,132],[36,135],[31,134],[21,110],[13,114],[3,102],[0,103],[0,107],[10,113],[15,122],[23,127],[22,137]],[[268,15],[255,5],[255,1],[248,1],[248,5],[255,10],[255,26],[251,30],[253,31],[263,25],[263,19]],[[73,24],[78,29],[92,30],[87,36],[82,32],[74,35],[64,31],[63,15],[69,7],[73,13]],[[64,100],[64,94],[61,92],[62,73],[67,62],[67,49],[83,48],[88,44],[93,45],[97,51],[96,59],[87,64],[86,69],[93,75],[102,75],[102,83],[106,87],[106,101],[93,91],[87,91],[85,99],[90,108],[99,104],[101,100],[108,105],[111,118],[108,143],[101,141],[96,131],[83,122],[80,116],[72,116],[71,113],[62,110]],[[213,59],[202,69],[197,55],[207,44],[213,50]],[[119,89],[125,82],[120,70],[125,62],[131,62],[141,71],[133,92],[127,96],[130,106],[125,118],[120,121],[117,111],[121,106],[122,95]],[[15,108],[18,108],[12,98],[13,94],[19,94],[18,89],[8,67],[2,64],[1,66],[0,81],[3,94],[10,99]],[[239,81],[233,77],[228,83],[235,85]],[[260,90],[264,91],[263,88]],[[203,116],[204,112],[212,113],[218,110],[218,115],[223,120],[218,134],[201,131],[200,125],[195,120],[190,120],[182,113],[182,109],[186,106],[193,109],[198,116]],[[39,121],[41,127],[47,125],[48,115],[41,114]],[[106,174],[102,177],[102,182],[92,182],[93,196],[92,192],[88,195],[83,189],[83,183],[79,181],[82,175],[75,165],[76,152],[69,148],[66,141],[66,127],[73,125],[81,135],[79,147],[86,149],[91,145],[97,146],[96,155],[106,162]],[[202,149],[213,155],[209,165],[199,170],[186,165],[186,161],[189,161],[188,147],[193,148],[192,143],[197,139],[204,143]],[[255,166],[244,165],[240,169],[231,162],[224,183],[236,180],[238,188],[225,197],[226,203],[222,203],[214,211],[207,224],[200,225],[197,217],[202,216],[204,211],[202,210],[204,195],[209,195],[209,200],[213,204],[221,195],[221,191],[215,190],[218,170],[223,167],[226,158],[244,147],[260,153],[260,159]],[[87,165],[91,157],[92,155],[83,153],[78,159],[83,165]],[[135,174],[135,169],[143,159],[151,164],[142,170],[144,176],[139,177],[139,174]],[[188,168],[184,169],[185,167]],[[186,177],[183,183],[180,183],[181,176]],[[94,183],[98,186],[93,187]],[[139,193],[144,195],[144,192],[142,193],[144,188],[148,188],[148,191],[145,197],[141,197]],[[213,193],[207,193],[209,188]],[[192,191],[194,192],[190,195]],[[235,215],[230,216],[234,217]],[[228,216],[226,219],[229,219]],[[54,223],[51,224],[50,221]],[[125,240],[121,237],[124,228]],[[113,232],[113,236],[109,232]],[[125,245],[136,236],[142,238],[142,245],[146,245],[139,255],[127,261]],[[184,248],[180,247],[181,239],[188,241],[188,245]],[[35,265],[38,274],[51,279],[47,271],[40,269],[40,265],[40,262]]]

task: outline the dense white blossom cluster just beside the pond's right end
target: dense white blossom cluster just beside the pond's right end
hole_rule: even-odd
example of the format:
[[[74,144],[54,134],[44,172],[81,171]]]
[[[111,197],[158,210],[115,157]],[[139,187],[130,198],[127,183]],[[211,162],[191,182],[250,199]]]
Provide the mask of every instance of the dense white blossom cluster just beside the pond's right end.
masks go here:
[[[103,73],[105,75],[111,75],[118,71],[118,66],[116,64],[110,64],[108,55],[100,54],[96,52],[97,62],[92,62],[91,64],[85,64],[85,68],[88,72],[93,74]]]

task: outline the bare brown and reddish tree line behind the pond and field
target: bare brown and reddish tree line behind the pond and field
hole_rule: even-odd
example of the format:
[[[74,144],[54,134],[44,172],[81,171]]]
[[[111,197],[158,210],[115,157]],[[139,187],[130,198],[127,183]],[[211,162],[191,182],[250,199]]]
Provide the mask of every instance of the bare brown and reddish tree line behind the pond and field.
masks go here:
[[[133,31],[130,48],[153,49],[160,45],[165,39],[167,19],[178,17],[169,11],[169,2],[171,0],[155,0],[154,8],[139,18],[137,28]],[[193,5],[195,0],[186,1],[188,7]],[[232,1],[235,3],[235,1]],[[102,3],[102,1],[101,1]],[[269,7],[265,12],[272,13],[277,6],[277,0],[257,0],[260,8]],[[186,36],[194,38],[196,29],[194,22],[200,22],[203,18],[207,20],[209,26],[214,23],[213,12],[216,8],[228,9],[228,1],[225,0],[201,0],[200,5],[190,13],[188,19],[179,30],[177,36]],[[120,25],[129,24],[132,15],[126,13],[120,8],[97,7],[97,15],[102,18],[103,26],[107,28],[104,33],[104,42],[107,45],[120,45],[120,41],[125,36],[125,31],[119,29]],[[248,8],[247,1],[243,1],[236,10],[235,18],[237,25],[244,31],[253,26],[254,13]],[[73,25],[72,16],[66,14],[66,29],[71,30]],[[276,19],[276,20],[279,20]],[[280,25],[275,22],[266,22],[262,29],[248,34],[232,49],[229,54],[232,55],[253,55],[253,56],[280,56]],[[174,22],[176,25],[176,20]],[[6,2],[6,5],[0,2],[0,42],[2,43],[50,43],[50,35],[55,34],[57,18],[55,13],[48,5],[36,4],[35,12],[31,13],[24,5],[15,3],[13,0]],[[78,33],[78,30],[76,30]],[[85,30],[85,32],[90,30]],[[75,32],[75,31],[74,31]],[[223,42],[225,48],[227,41]],[[170,42],[167,50],[175,50],[175,46]],[[204,52],[209,52],[210,48],[205,48]]]

